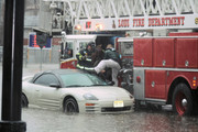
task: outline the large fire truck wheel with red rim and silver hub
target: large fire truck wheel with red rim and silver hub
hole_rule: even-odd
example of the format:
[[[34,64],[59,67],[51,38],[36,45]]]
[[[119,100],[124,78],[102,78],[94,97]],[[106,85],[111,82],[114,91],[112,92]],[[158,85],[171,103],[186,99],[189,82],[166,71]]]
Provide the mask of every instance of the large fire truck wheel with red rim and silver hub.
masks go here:
[[[193,95],[186,84],[178,84],[173,95],[173,110],[179,116],[189,116],[193,112]]]

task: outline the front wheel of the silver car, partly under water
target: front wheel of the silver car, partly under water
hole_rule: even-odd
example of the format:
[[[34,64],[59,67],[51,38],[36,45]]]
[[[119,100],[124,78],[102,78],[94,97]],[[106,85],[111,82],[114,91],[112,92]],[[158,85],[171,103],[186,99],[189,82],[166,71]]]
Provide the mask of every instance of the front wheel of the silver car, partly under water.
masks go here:
[[[79,112],[78,105],[74,98],[66,99],[64,102],[65,113],[77,113]]]

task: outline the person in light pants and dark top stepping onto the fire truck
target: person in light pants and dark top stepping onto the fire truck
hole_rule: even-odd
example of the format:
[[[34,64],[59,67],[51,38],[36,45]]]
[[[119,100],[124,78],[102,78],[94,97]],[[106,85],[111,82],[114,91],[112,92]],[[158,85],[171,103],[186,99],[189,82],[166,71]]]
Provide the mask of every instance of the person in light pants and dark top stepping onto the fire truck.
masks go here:
[[[107,45],[107,50],[105,53],[105,59],[102,59],[92,72],[105,73],[106,68],[111,68],[111,77],[112,81],[114,81],[114,86],[118,86],[118,73],[121,69],[121,59],[119,53],[112,47],[112,44]]]

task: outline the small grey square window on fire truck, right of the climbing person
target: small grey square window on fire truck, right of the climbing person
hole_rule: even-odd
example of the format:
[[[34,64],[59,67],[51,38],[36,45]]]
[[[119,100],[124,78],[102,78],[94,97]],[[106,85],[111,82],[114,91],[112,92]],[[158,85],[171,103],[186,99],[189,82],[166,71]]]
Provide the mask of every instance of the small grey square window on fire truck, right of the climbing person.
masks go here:
[[[122,56],[133,55],[133,43],[124,42],[121,44]]]

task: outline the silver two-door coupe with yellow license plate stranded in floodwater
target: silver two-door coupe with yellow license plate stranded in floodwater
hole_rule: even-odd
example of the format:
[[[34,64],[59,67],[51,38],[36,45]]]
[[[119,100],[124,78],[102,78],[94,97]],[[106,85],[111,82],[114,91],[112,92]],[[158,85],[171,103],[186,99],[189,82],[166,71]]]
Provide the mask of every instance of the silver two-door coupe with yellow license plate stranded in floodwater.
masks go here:
[[[133,96],[78,69],[55,69],[23,79],[22,107],[59,109],[65,113],[131,112]]]

